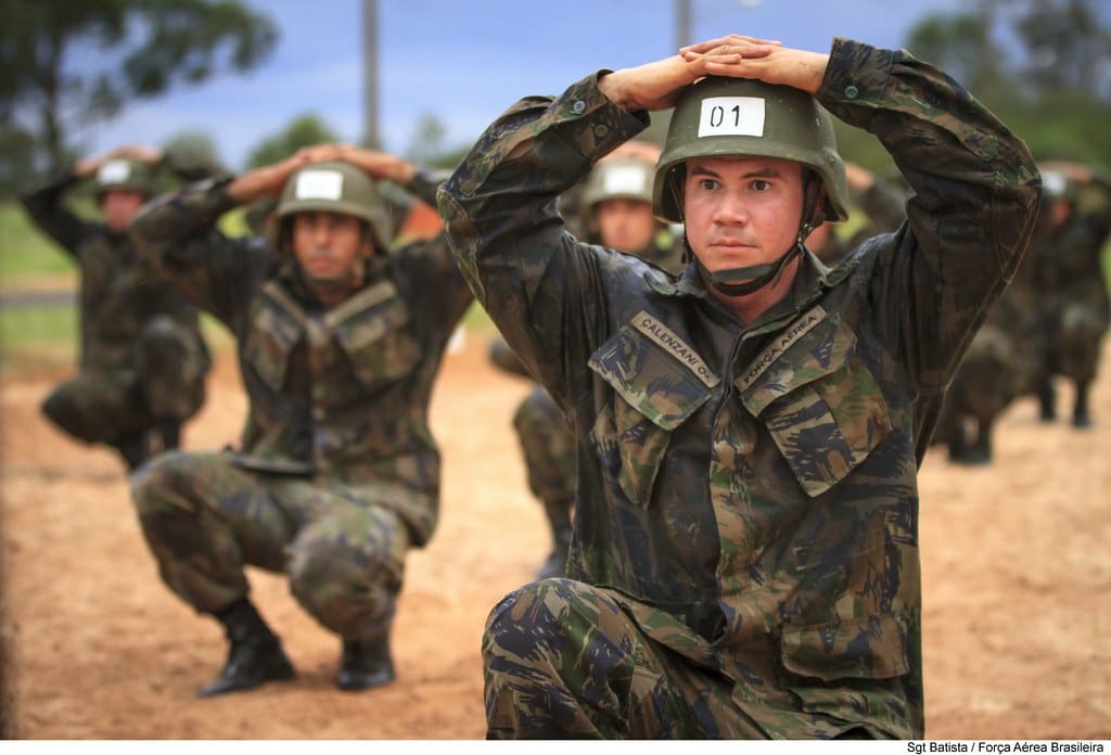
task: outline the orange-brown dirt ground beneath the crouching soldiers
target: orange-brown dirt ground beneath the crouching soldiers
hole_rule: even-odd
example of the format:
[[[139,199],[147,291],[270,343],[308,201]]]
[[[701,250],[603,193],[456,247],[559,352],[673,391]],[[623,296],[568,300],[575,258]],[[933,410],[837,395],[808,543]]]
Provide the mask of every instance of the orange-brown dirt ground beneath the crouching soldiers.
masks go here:
[[[473,739],[484,732],[479,638],[488,610],[548,552],[510,417],[528,386],[468,339],[432,407],[443,502],[408,560],[394,633],[398,680],[332,686],[339,643],[284,582],[250,573],[297,681],[194,698],[224,642],[159,582],[110,452],[69,441],[38,405],[60,373],[2,391],[3,722],[23,739]],[[1107,361],[1107,360],[1105,360]],[[921,472],[927,734],[1111,738],[1111,364],[1097,426],[1043,425],[1011,407],[985,467],[931,450]],[[1062,413],[1071,395],[1062,390]],[[188,449],[233,442],[244,412],[224,352]]]

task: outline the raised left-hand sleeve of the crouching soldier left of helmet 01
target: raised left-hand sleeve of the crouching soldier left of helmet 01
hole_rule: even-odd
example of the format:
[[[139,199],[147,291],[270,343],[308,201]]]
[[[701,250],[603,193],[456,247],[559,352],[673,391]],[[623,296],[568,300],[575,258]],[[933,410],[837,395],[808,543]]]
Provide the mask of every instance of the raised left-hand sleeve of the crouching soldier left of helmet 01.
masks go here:
[[[229,238],[217,222],[236,207],[230,179],[191,183],[148,202],[131,221],[141,253],[196,306],[241,332],[244,302],[276,263],[263,240]]]

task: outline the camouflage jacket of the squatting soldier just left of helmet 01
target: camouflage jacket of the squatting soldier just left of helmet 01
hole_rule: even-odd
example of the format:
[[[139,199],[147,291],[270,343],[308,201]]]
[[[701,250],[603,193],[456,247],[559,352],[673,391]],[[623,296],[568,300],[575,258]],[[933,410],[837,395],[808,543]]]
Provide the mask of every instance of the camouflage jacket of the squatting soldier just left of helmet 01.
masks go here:
[[[449,338],[472,301],[441,233],[378,256],[366,284],[324,311],[296,261],[229,238],[223,182],[148,205],[136,235],[176,284],[237,340],[250,401],[241,466],[357,489],[406,517],[417,545],[436,527],[440,454],[428,422]]]

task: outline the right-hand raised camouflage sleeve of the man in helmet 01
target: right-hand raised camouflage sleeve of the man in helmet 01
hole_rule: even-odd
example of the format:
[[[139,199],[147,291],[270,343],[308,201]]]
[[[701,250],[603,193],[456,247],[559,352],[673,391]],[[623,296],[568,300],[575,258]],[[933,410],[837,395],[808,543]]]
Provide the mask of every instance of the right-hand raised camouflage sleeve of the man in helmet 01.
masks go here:
[[[870,296],[881,338],[940,393],[1022,261],[1041,177],[1001,121],[905,51],[834,40],[818,98],[879,138],[911,187]]]

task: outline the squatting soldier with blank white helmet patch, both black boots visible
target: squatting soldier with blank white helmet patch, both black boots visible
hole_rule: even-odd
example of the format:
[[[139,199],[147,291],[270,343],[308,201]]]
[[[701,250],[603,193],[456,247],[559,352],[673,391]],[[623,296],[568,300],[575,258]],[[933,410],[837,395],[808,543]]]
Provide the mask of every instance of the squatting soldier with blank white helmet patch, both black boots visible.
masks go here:
[[[236,336],[250,401],[238,451],[168,454],[132,484],[162,580],[228,636],[227,664],[200,696],[294,675],[249,597],[246,564],[283,571],[341,637],[339,688],[394,678],[404,555],[428,542],[439,510],[430,392],[472,296],[442,233],[387,253],[382,179],[434,201],[411,163],[322,144],[189,185],[132,223]],[[217,230],[227,211],[279,192],[269,244]]]

